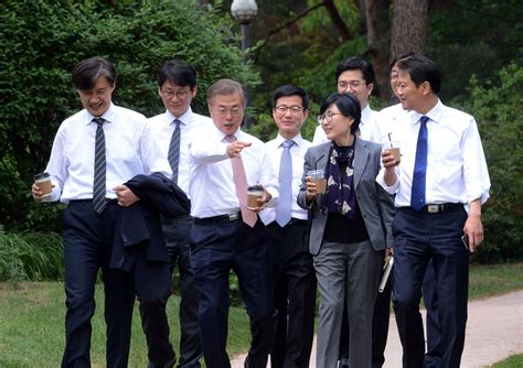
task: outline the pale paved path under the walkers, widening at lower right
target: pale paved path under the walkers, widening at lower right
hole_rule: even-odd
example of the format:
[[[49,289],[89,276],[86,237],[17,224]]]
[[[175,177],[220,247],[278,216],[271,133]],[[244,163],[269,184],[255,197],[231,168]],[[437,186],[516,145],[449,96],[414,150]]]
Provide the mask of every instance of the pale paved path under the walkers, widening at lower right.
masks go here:
[[[469,302],[462,368],[488,367],[521,353],[523,353],[523,290]],[[232,368],[243,368],[244,359],[245,355],[236,357],[231,361]],[[385,368],[402,366],[402,345],[394,316],[391,317],[385,359]],[[311,368],[314,367],[314,361],[316,338]]]

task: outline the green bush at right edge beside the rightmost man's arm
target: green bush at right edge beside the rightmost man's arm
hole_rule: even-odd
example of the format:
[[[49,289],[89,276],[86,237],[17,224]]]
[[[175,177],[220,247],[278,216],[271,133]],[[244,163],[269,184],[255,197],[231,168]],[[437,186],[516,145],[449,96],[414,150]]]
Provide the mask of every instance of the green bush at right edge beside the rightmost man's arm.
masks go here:
[[[523,258],[523,66],[510,64],[494,80],[472,77],[465,110],[478,121],[492,182],[483,210],[485,242],[474,259]]]

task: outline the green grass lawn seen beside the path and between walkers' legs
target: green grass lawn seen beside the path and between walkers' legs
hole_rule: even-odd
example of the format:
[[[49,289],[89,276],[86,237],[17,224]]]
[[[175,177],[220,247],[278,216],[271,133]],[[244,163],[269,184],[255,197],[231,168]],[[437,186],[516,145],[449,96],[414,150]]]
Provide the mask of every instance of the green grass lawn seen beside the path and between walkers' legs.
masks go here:
[[[523,289],[523,263],[472,266],[470,300],[483,299]],[[102,285],[96,292],[103,306]],[[171,339],[179,350],[178,297],[169,301]],[[146,367],[147,351],[140,317],[135,310],[130,367]],[[0,283],[0,367],[58,367],[64,347],[64,291],[61,282]],[[230,313],[228,354],[231,358],[246,351],[249,324],[243,309]],[[519,359],[519,360],[517,360]],[[522,356],[515,356],[494,367],[521,367]],[[103,307],[93,318],[93,367],[105,367],[105,322]],[[504,362],[503,362],[504,364]]]

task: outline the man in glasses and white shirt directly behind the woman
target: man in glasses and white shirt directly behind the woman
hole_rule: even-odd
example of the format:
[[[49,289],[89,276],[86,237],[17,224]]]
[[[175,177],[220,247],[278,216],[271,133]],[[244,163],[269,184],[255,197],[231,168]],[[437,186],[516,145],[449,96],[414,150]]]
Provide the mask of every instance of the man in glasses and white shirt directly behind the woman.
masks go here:
[[[380,142],[382,134],[376,122],[377,112],[372,110],[369,105],[369,98],[374,89],[374,69],[372,65],[361,57],[349,57],[338,64],[335,80],[339,94],[353,94],[360,101],[362,109],[361,138],[371,142]],[[317,145],[327,141],[325,132],[319,126],[316,128],[312,144]]]

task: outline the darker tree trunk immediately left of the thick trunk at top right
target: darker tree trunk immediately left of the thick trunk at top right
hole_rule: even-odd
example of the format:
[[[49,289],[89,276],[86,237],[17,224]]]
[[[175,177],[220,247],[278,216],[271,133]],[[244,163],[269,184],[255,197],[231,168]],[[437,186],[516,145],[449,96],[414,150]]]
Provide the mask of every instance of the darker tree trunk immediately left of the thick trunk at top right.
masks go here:
[[[374,72],[376,74],[380,96],[388,99],[388,50],[389,50],[389,22],[388,1],[366,0],[365,21],[367,51],[372,55]]]

